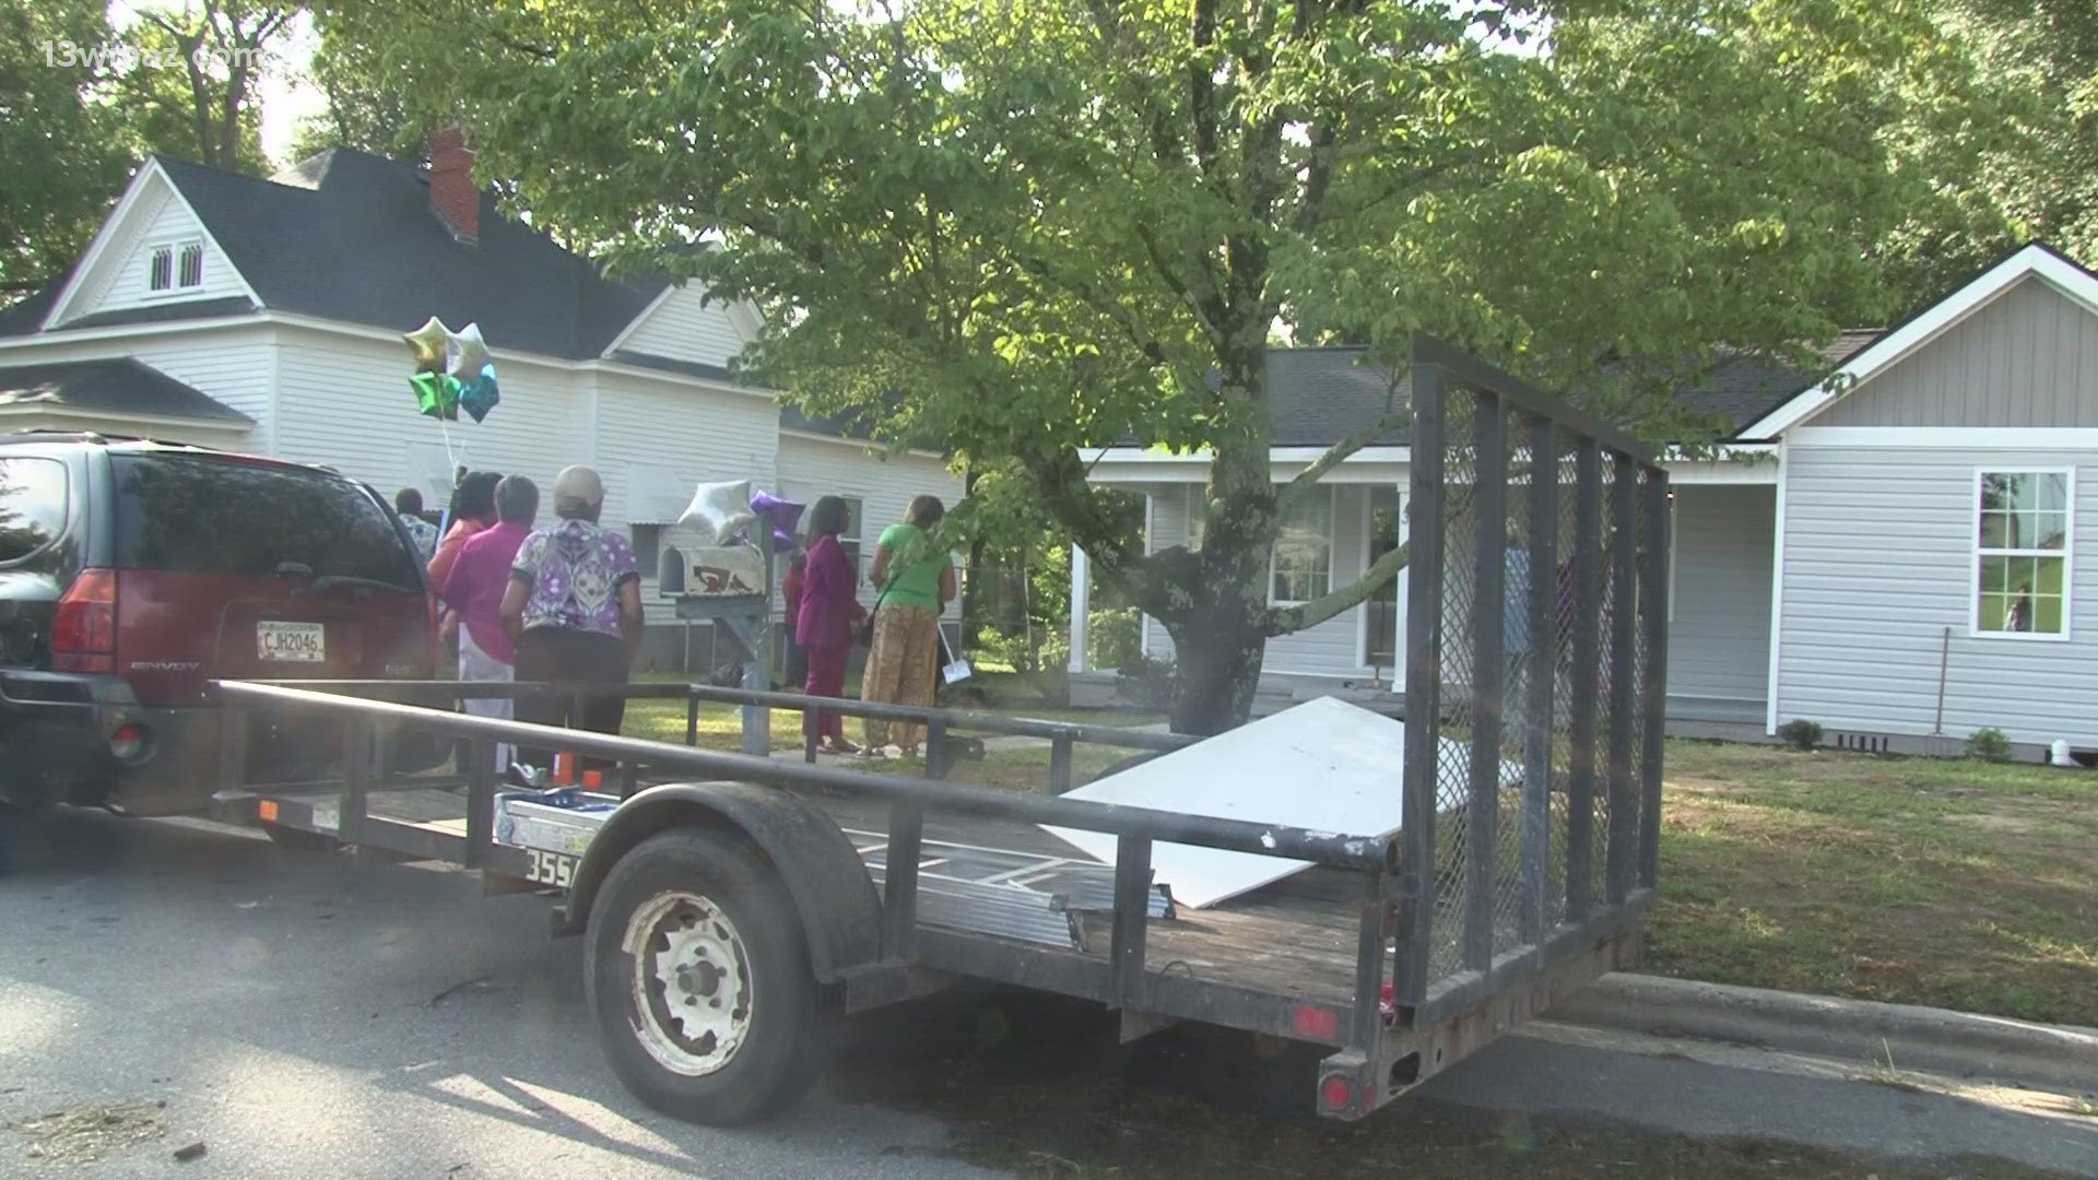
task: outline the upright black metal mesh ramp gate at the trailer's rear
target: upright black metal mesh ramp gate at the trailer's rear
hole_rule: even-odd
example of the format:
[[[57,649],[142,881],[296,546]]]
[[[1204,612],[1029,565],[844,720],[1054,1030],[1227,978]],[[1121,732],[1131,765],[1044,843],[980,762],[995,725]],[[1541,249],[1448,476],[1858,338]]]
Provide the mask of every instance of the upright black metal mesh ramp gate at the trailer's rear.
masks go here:
[[[1645,447],[1435,342],[1412,376],[1401,1004],[1653,886],[1668,554]]]

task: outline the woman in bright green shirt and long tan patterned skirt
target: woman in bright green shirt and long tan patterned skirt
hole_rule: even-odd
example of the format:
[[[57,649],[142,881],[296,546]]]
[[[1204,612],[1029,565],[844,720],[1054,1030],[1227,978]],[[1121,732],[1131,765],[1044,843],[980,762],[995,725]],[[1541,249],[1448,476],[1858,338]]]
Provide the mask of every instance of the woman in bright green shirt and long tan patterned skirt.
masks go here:
[[[875,542],[875,563],[866,580],[875,590],[875,647],[860,674],[862,701],[932,705],[934,649],[940,642],[940,611],[955,598],[955,561],[934,542],[932,529],[946,517],[938,496],[919,496],[904,523],[890,525]],[[866,752],[881,754],[894,735],[904,758],[915,758],[925,726],[866,720]]]

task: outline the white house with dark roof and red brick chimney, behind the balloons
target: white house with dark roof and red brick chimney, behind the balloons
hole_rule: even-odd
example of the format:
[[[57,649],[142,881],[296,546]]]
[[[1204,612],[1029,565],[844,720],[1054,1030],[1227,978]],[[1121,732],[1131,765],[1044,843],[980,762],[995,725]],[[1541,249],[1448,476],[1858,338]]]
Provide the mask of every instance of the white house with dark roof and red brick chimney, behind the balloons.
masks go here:
[[[480,424],[415,412],[401,332],[430,315],[478,323],[495,355],[501,403]],[[590,464],[606,523],[634,533],[667,647],[682,634],[655,571],[692,485],[845,496],[864,538],[917,493],[961,496],[938,456],[883,458],[732,378],[757,330],[747,304],[606,279],[501,216],[455,136],[432,139],[428,170],[334,149],[264,181],[153,157],[71,271],[0,311],[0,430],[327,464],[386,496],[420,487],[430,506],[453,462],[541,487]]]

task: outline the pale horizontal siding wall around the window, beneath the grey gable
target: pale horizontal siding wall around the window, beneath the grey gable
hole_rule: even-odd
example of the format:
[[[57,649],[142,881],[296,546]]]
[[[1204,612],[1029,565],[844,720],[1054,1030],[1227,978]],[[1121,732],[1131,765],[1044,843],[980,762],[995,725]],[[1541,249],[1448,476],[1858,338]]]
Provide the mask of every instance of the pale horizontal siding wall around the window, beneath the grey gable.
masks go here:
[[[2098,745],[2098,456],[1792,447],[1787,462],[1779,722],[1930,735],[1945,651],[1947,735]],[[2071,638],[1970,638],[1974,470],[2060,466],[2077,470]]]

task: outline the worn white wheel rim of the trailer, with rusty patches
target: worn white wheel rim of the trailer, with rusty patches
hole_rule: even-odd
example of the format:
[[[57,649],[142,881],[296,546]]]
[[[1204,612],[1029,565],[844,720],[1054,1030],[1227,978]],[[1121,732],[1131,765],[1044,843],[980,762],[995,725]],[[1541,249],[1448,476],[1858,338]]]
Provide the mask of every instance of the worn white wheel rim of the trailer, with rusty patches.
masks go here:
[[[751,1031],[751,962],[713,899],[661,892],[627,918],[634,1037],[663,1069],[705,1077],[734,1060]]]

